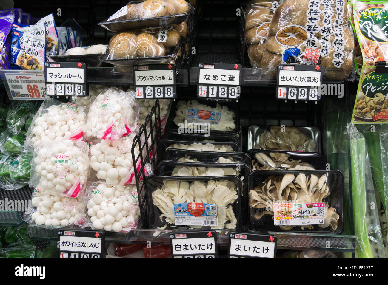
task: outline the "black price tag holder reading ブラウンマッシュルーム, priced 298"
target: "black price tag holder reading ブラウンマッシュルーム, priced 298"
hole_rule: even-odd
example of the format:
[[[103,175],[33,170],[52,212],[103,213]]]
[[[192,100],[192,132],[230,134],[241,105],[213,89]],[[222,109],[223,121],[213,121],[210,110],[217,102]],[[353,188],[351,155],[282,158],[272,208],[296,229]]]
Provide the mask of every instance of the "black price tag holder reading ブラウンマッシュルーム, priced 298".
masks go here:
[[[133,66],[137,99],[177,98],[175,64]]]

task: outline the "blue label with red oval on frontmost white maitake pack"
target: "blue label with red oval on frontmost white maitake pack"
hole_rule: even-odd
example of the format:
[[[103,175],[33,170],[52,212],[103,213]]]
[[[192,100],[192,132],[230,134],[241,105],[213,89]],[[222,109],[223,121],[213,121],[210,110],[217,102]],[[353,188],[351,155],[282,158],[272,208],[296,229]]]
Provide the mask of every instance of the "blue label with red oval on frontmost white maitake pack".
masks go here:
[[[174,204],[175,225],[218,226],[217,205],[203,203]]]

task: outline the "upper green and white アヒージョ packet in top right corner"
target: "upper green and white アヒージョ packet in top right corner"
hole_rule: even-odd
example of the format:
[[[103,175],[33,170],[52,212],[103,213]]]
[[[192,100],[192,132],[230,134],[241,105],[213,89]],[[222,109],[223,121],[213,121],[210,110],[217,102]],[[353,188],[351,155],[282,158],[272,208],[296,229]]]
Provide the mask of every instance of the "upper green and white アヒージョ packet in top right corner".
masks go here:
[[[356,52],[361,52],[363,66],[388,60],[387,15],[388,3],[385,1],[355,1],[353,4],[354,28],[359,41]]]

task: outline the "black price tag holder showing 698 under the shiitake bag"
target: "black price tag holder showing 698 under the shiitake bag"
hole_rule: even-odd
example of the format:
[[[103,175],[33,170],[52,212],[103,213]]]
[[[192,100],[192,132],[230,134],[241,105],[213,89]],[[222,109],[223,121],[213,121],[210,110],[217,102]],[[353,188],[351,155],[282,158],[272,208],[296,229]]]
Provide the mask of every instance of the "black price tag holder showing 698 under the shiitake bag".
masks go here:
[[[277,94],[281,100],[319,101],[322,66],[286,65],[277,68]]]

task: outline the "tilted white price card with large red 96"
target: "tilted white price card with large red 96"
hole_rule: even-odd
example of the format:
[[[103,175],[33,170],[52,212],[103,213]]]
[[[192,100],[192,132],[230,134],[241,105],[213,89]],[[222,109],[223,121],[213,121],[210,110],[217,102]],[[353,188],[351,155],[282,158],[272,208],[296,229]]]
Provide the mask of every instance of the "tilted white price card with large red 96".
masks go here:
[[[45,77],[43,71],[7,70],[2,73],[8,97],[13,100],[44,100]]]

